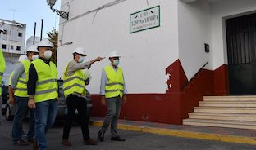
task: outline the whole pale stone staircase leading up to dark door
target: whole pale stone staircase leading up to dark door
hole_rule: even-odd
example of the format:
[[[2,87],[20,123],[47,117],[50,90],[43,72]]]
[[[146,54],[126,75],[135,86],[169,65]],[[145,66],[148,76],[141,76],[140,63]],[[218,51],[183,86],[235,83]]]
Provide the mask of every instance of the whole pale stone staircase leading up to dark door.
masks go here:
[[[256,130],[256,96],[205,96],[183,124]]]

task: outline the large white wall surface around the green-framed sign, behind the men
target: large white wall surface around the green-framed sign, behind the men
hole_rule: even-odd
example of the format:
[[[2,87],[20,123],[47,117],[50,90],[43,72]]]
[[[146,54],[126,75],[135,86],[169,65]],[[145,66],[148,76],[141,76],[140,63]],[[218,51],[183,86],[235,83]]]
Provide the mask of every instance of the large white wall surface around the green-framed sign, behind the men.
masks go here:
[[[62,10],[70,10],[70,19],[61,20],[60,37],[62,46],[58,49],[57,69],[59,77],[72,59],[72,51],[77,46],[84,46],[87,60],[97,56],[108,57],[111,51],[121,54],[123,68],[129,93],[165,93],[165,69],[178,59],[178,14],[177,1],[155,0],[147,1],[126,0],[115,6],[101,11],[72,18],[101,7],[109,1],[76,0],[62,1]],[[161,27],[130,34],[130,14],[149,7],[161,7]],[[93,21],[94,20],[94,21]],[[73,42],[65,45],[66,42]],[[90,72],[93,76],[89,90],[99,93],[100,75],[109,60],[93,64]]]

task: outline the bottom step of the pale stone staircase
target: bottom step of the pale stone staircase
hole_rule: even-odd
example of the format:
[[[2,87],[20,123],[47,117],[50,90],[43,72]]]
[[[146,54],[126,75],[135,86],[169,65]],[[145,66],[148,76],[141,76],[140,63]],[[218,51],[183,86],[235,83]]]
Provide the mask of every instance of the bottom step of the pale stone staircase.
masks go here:
[[[220,121],[207,119],[185,119],[183,120],[183,124],[190,126],[218,126],[256,130],[256,121]]]

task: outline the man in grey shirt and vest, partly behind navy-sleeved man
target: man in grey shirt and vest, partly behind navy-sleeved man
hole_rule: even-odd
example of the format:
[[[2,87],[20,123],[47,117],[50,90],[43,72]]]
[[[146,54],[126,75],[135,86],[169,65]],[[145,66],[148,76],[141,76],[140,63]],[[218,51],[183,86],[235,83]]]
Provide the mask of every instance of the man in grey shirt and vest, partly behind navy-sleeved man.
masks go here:
[[[11,88],[16,100],[16,113],[12,124],[12,139],[14,145],[28,145],[28,142],[34,141],[34,111],[28,107],[29,95],[27,84],[29,80],[29,68],[33,60],[38,58],[39,52],[36,46],[28,47],[26,51],[27,58],[16,64],[16,68],[11,75]],[[14,99],[10,99],[10,103],[14,103]],[[29,131],[26,140],[22,138],[22,120],[26,113],[30,111]]]

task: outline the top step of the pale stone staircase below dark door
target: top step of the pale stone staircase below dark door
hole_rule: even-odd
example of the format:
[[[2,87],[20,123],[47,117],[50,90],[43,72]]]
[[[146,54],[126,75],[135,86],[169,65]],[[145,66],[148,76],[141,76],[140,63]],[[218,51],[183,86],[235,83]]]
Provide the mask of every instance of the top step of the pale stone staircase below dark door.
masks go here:
[[[255,101],[255,95],[243,95],[243,96],[204,96],[204,101],[223,101],[223,100],[240,100],[240,101]]]

